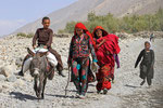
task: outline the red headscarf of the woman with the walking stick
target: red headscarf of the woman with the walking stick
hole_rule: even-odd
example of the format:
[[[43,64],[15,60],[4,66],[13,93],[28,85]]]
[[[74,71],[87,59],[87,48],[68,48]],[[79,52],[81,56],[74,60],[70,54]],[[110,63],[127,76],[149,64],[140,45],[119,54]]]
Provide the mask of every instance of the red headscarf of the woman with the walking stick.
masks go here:
[[[96,43],[95,43],[95,41],[93,41],[93,39],[92,39],[91,33],[88,31],[88,29],[86,28],[86,26],[85,26],[83,23],[77,23],[77,24],[75,25],[74,36],[76,36],[76,28],[83,29],[83,30],[85,31],[85,33],[87,33],[87,35],[90,37],[93,46],[96,45]]]

